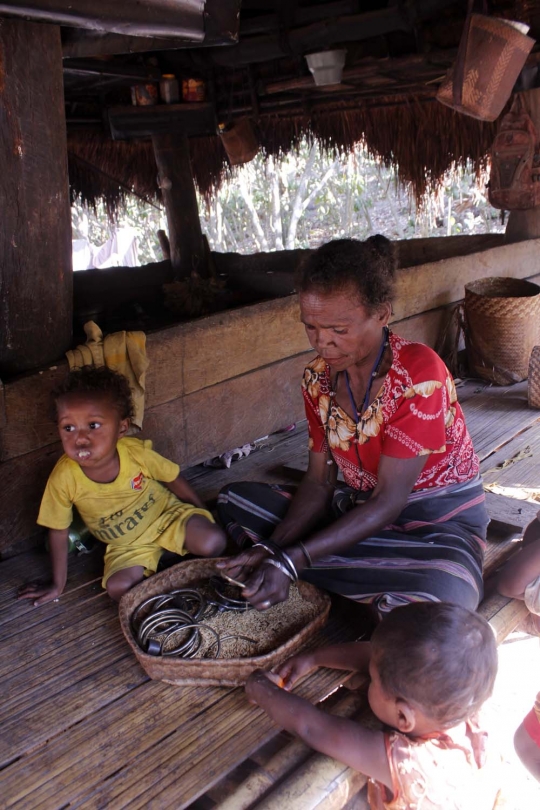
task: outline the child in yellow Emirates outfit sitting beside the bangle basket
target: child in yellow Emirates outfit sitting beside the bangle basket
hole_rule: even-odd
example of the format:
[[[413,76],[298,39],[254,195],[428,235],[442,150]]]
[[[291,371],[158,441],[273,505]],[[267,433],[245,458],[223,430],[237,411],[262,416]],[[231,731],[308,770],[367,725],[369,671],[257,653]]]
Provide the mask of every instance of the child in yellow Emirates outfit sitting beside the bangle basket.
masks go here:
[[[152,442],[127,437],[133,414],[128,381],[106,367],[72,371],[55,395],[64,455],[52,471],[38,516],[49,529],[52,582],[29,583],[20,599],[57,599],[67,578],[68,531],[76,506],[107,544],[103,587],[119,600],[157,570],[163,551],[219,555],[225,534]]]

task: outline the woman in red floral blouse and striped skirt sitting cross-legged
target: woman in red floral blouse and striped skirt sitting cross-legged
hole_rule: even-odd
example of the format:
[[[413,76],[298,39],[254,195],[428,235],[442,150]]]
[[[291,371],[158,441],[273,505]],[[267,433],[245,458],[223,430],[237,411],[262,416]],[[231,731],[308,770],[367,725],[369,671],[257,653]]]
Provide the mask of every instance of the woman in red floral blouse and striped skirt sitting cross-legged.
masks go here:
[[[294,494],[236,483],[218,502],[242,549],[221,567],[259,610],[297,574],[379,614],[422,600],[474,610],[482,597],[478,458],[443,361],[388,329],[395,271],[382,236],[330,242],[300,268],[318,355],[303,381],[307,473]]]

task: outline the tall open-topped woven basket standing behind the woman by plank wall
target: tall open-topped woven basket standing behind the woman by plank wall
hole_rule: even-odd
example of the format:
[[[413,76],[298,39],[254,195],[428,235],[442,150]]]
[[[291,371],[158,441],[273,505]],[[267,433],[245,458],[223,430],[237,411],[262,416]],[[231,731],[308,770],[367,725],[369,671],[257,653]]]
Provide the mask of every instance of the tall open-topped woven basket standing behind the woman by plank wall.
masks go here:
[[[540,343],[540,287],[516,278],[465,285],[465,343],[473,373],[496,385],[526,380]]]

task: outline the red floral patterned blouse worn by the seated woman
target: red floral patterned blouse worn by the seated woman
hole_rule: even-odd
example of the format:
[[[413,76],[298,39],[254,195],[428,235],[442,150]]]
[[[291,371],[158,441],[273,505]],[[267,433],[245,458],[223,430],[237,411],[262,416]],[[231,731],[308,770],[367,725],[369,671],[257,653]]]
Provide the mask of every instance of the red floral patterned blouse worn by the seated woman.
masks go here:
[[[474,478],[478,457],[445,364],[428,346],[392,333],[390,347],[392,366],[358,425],[332,398],[330,368],[323,358],[316,357],[306,367],[302,388],[310,450],[325,453],[330,448],[345,482],[354,489],[375,487],[381,454],[430,456],[415,490]]]

